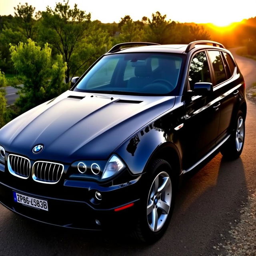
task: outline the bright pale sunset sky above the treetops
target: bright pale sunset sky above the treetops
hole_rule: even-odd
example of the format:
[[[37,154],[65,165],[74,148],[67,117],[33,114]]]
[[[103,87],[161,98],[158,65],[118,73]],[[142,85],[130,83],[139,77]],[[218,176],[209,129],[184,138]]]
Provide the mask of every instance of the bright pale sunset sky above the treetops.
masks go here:
[[[0,0],[0,15],[14,14],[14,6],[28,2],[36,11],[45,10],[46,6],[54,8],[60,0]],[[103,23],[119,22],[121,17],[130,15],[133,20],[143,16],[151,17],[159,11],[167,19],[178,22],[213,23],[226,26],[244,18],[256,16],[255,0],[70,0],[70,6],[90,12],[92,20]]]

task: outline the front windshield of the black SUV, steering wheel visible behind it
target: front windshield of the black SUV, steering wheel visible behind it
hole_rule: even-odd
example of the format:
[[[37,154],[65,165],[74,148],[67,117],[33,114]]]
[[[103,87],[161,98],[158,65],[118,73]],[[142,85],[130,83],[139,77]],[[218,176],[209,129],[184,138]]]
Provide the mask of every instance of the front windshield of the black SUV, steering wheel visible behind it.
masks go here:
[[[169,94],[177,86],[182,57],[161,53],[106,55],[75,91],[120,94]]]

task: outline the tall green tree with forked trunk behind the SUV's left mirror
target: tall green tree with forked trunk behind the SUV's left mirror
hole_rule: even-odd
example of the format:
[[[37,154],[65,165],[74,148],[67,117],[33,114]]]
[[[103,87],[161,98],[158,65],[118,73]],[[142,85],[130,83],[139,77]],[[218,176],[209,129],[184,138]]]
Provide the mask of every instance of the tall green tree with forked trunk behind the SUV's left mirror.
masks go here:
[[[42,42],[49,42],[67,63],[66,82],[69,82],[71,68],[81,67],[72,62],[73,55],[81,49],[81,44],[90,35],[92,22],[91,14],[79,10],[77,5],[71,9],[68,1],[57,3],[54,10],[49,6],[42,12],[40,38]],[[82,54],[83,55],[83,54]],[[71,67],[73,66],[73,67]],[[76,66],[76,67],[74,67]],[[83,65],[82,65],[83,66]]]

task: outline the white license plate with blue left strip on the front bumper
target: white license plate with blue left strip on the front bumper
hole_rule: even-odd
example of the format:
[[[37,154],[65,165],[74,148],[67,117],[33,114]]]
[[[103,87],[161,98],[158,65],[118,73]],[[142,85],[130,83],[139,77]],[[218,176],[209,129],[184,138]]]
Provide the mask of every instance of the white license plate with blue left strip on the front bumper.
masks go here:
[[[25,196],[17,192],[13,192],[14,202],[31,206],[40,210],[48,211],[48,202],[46,200]]]

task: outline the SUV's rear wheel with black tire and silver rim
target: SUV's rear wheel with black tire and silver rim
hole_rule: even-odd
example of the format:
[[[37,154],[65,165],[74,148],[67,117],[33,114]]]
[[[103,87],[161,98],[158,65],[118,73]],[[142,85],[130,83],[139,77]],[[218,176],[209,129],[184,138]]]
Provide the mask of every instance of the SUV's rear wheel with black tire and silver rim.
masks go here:
[[[220,150],[222,156],[228,160],[234,160],[238,158],[244,148],[244,138],[244,114],[241,110],[239,110],[235,121],[234,131]]]

